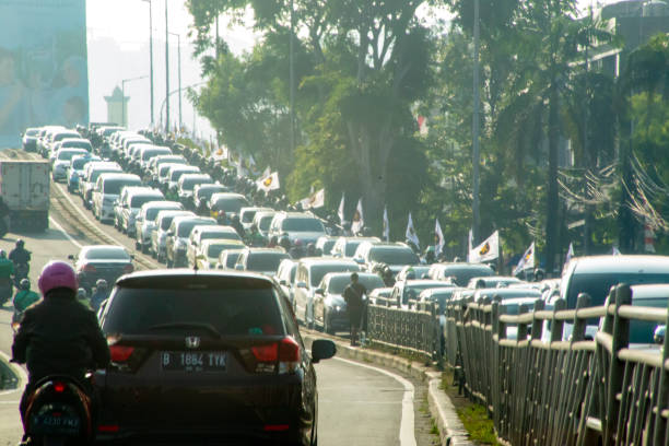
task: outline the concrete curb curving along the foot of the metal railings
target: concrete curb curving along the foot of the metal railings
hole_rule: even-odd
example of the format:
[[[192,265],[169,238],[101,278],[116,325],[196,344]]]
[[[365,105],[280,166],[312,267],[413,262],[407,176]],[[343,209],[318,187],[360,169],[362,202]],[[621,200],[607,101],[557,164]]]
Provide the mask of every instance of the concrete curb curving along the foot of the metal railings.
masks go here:
[[[437,427],[439,429],[439,439],[442,446],[474,445],[471,441],[469,441],[469,434],[458,418],[455,406],[448,396],[446,396],[446,394],[439,389],[442,380],[438,372],[434,372],[430,367],[422,364],[414,363],[392,354],[376,352],[368,349],[352,348],[338,338],[322,334],[317,331],[305,330],[304,327],[301,331],[303,332],[303,338],[307,343],[312,343],[315,339],[329,339],[333,341],[337,344],[337,355],[340,357],[395,368],[406,373],[412,378],[427,382],[430,413],[436,421]]]

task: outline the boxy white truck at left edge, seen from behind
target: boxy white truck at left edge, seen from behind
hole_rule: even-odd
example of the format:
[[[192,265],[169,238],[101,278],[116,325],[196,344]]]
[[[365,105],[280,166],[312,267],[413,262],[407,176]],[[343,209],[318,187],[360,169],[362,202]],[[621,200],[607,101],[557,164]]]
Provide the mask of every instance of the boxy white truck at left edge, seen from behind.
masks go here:
[[[9,231],[49,226],[49,163],[0,161],[0,198],[9,208]]]

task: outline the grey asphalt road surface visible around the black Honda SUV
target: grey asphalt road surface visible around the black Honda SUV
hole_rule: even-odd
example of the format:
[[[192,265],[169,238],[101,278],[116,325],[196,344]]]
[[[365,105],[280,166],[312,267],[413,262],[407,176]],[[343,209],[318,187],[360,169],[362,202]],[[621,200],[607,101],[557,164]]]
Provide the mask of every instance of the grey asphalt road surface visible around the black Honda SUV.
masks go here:
[[[70,197],[74,203],[81,202]],[[122,245],[133,248],[130,238],[111,226],[99,224],[87,211],[80,209],[82,218],[87,216]],[[57,214],[51,216],[50,228],[46,233],[21,235],[26,248],[33,253],[31,280],[35,289],[37,275],[48,260],[66,259],[69,254],[78,251],[77,244],[90,243],[77,230],[77,222],[64,221]],[[8,234],[0,239],[0,248],[9,251],[16,237],[15,234]],[[11,304],[0,309],[0,352],[5,355],[10,354],[12,341],[11,310]],[[413,386],[410,383],[391,372],[340,359],[325,361],[316,368],[321,446],[416,444]],[[17,410],[21,390],[0,394],[0,446],[15,445],[21,438]]]

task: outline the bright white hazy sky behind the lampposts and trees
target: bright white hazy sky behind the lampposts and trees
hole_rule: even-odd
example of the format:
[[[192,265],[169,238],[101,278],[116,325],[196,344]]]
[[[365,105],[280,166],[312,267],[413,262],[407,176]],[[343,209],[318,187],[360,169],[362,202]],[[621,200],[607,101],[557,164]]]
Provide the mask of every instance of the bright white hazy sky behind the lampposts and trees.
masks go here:
[[[152,0],[153,9],[153,54],[154,54],[154,114],[160,121],[160,109],[165,90],[165,1],[168,2],[168,27],[171,33],[181,36],[181,85],[186,87],[200,82],[200,68],[191,58],[192,47],[188,43],[190,14],[184,0]],[[361,0],[365,1],[365,0]],[[615,0],[579,0],[582,8],[594,4],[606,4]],[[144,0],[87,0],[86,1],[87,42],[89,42],[89,80],[91,96],[91,120],[106,120],[104,96],[110,95],[121,80],[149,75],[149,3]],[[254,35],[247,30],[228,28],[221,23],[221,35],[234,52],[249,50]],[[177,44],[176,37],[169,36],[169,90],[176,90],[177,83]],[[126,83],[128,118],[131,128],[149,126],[150,87],[149,80]],[[171,95],[171,120],[178,116],[178,95]],[[193,110],[190,103],[183,97],[183,121],[192,128]],[[164,116],[164,115],[163,115]],[[206,120],[198,119],[196,128],[208,137],[211,129]]]

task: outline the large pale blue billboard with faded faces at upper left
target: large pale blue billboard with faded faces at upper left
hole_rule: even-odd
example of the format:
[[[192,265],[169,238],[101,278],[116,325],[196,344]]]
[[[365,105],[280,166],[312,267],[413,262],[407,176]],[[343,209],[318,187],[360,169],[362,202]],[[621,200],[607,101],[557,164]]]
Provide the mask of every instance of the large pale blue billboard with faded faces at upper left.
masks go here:
[[[0,0],[0,149],[89,122],[85,0]]]

